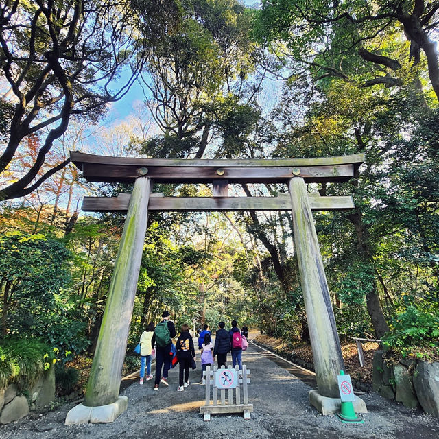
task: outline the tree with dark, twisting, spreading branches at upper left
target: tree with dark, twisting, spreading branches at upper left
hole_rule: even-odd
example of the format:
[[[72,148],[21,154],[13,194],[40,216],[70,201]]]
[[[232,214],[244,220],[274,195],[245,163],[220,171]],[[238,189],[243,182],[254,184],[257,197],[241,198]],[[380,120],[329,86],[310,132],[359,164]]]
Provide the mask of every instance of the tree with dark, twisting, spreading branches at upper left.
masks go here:
[[[165,2],[159,6],[154,32],[165,22],[161,16],[172,12]],[[69,163],[67,158],[46,166],[45,158],[72,117],[93,123],[109,102],[127,93],[145,62],[140,24],[128,0],[2,3],[0,68],[10,88],[0,99],[1,126],[8,125],[0,175],[25,150],[27,137],[38,137],[40,148],[18,178],[2,179],[0,200],[27,195]],[[128,70],[128,78],[121,80],[120,73]]]

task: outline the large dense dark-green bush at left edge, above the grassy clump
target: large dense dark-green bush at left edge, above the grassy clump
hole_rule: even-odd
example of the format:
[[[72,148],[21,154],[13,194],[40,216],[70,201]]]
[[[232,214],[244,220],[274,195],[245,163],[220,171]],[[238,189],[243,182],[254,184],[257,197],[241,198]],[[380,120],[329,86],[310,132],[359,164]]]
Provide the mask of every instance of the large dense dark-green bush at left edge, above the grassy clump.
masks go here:
[[[75,318],[77,302],[68,290],[70,257],[62,242],[44,235],[14,231],[0,237],[4,333],[38,337],[60,352],[86,349],[86,323]]]

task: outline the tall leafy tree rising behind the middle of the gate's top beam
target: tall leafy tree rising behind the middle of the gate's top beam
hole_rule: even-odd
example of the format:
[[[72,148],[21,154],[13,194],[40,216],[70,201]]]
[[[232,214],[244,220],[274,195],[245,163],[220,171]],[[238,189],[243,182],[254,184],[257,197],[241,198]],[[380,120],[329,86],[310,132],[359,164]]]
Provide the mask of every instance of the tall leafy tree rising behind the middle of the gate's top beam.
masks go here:
[[[183,3],[178,26],[150,48],[145,84],[164,136],[147,143],[154,156],[202,158],[228,106],[247,104],[259,90],[259,57],[250,38],[252,11],[237,0]],[[243,102],[239,102],[244,99]]]

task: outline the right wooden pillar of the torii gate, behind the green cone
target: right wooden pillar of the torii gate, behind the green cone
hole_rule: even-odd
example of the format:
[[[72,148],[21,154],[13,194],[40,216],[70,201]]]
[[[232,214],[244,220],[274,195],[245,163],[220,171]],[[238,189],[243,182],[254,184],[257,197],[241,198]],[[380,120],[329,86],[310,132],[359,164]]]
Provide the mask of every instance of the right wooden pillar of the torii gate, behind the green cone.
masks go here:
[[[292,201],[294,244],[305,298],[318,392],[322,396],[340,398],[337,375],[344,369],[342,348],[303,178],[294,177],[289,180],[289,193]]]

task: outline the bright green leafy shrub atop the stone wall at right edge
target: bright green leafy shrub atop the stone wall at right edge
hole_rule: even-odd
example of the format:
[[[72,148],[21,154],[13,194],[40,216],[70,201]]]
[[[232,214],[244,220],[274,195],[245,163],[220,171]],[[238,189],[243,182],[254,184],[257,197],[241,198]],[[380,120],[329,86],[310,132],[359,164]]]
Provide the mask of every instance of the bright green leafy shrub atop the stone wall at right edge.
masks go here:
[[[396,314],[383,345],[401,357],[431,359],[439,356],[439,309],[408,305]]]

